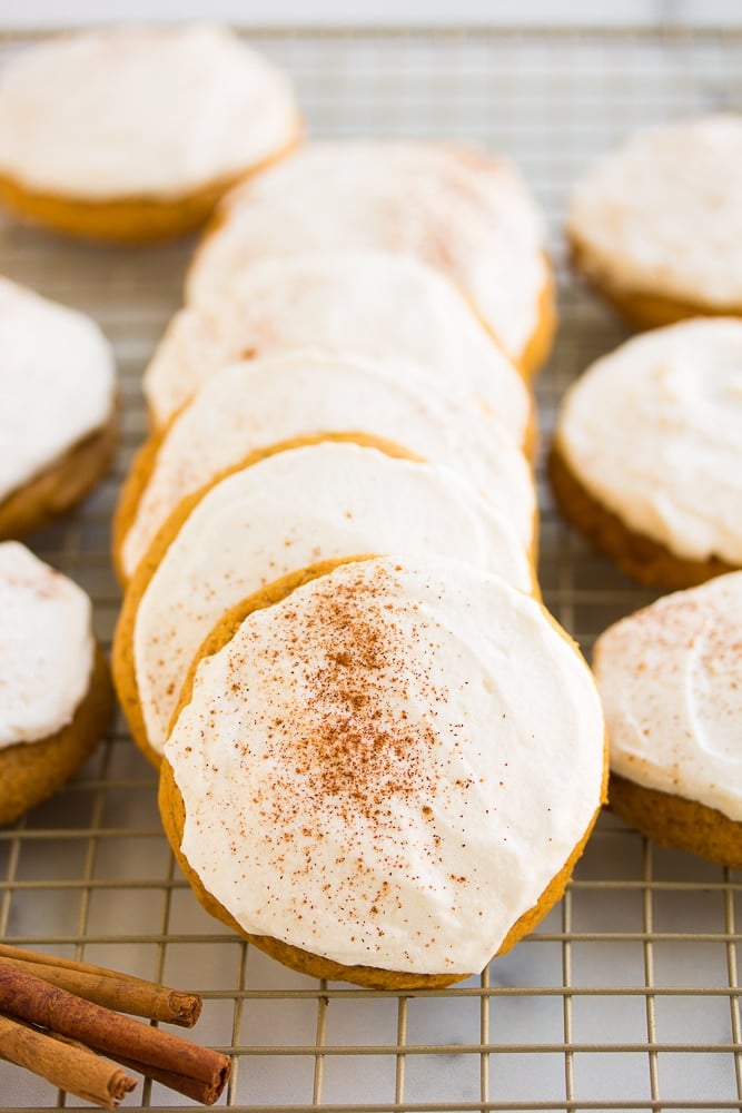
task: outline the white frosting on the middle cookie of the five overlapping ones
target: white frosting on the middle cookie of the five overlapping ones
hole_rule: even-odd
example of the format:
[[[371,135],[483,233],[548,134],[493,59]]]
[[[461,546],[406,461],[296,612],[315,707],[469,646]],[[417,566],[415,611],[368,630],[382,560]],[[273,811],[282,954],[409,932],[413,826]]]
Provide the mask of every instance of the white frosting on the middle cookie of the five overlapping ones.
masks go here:
[[[296,437],[363,433],[463,473],[533,542],[533,477],[493,415],[438,394],[413,364],[309,351],[234,364],[207,380],[168,429],[121,549],[131,575],[170,512],[190,492]]]

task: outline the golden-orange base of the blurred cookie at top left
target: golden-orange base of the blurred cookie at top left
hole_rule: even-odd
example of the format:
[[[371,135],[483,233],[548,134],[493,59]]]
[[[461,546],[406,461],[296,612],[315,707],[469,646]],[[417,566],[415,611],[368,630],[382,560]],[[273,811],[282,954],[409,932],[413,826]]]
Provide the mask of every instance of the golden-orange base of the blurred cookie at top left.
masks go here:
[[[185,236],[200,228],[227,190],[253,174],[278,161],[298,146],[296,137],[284,149],[258,166],[229,175],[179,197],[121,197],[87,201],[27,188],[0,175],[0,205],[21,219],[83,239],[117,244],[148,244]]]

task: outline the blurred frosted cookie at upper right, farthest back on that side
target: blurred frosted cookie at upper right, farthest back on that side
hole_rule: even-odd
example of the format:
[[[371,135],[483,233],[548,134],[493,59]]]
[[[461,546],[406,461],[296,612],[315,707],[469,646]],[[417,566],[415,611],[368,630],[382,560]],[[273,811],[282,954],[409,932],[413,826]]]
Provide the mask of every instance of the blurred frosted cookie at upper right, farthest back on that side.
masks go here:
[[[742,315],[741,196],[742,116],[643,132],[574,189],[575,263],[640,327]]]

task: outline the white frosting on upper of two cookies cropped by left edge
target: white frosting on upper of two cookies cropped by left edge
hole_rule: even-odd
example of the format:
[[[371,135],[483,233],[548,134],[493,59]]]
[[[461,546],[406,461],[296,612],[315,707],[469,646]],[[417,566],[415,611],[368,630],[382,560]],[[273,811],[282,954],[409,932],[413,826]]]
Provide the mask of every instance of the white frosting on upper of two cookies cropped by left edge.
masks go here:
[[[0,278],[0,500],[105,425],[115,394],[98,326]]]

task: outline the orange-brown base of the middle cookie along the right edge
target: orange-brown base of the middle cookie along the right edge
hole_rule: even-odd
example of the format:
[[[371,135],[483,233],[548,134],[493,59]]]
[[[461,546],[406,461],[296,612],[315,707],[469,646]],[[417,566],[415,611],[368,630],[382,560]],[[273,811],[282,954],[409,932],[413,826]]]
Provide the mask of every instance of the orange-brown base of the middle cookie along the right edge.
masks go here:
[[[708,561],[684,560],[657,541],[631,530],[583,486],[557,443],[552,445],[548,456],[548,475],[564,516],[622,572],[641,583],[677,590],[735,571],[715,556]]]

